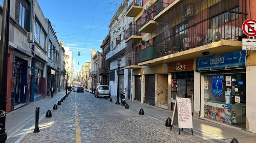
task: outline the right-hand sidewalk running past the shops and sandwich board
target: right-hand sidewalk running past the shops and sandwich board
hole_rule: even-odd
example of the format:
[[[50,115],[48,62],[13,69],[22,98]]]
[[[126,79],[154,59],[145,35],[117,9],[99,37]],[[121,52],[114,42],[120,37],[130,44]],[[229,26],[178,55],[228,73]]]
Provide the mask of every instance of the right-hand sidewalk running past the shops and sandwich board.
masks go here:
[[[173,116],[173,111],[168,111],[166,109],[154,107],[144,103],[142,104],[139,101],[127,100],[127,104],[129,105],[129,108],[138,111],[138,113],[139,110],[143,108],[145,115],[151,116],[157,120],[164,122],[163,125],[165,125],[168,117],[172,119]],[[178,128],[178,126],[176,125],[174,127]],[[190,129],[184,130],[187,132],[191,132]],[[232,127],[226,124],[209,122],[204,119],[193,118],[193,131],[194,135],[199,135],[212,141],[221,140],[223,142],[229,143],[233,138],[236,138],[238,139],[239,143],[256,142],[256,134],[254,133],[249,133],[240,128]],[[178,132],[177,135],[179,135]]]

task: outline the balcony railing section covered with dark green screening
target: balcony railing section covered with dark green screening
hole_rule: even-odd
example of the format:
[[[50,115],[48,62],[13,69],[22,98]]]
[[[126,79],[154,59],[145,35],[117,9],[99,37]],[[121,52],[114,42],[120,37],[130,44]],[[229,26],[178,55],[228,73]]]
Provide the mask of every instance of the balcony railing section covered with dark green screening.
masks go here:
[[[140,51],[140,62],[155,59],[156,51],[154,46],[146,47]]]

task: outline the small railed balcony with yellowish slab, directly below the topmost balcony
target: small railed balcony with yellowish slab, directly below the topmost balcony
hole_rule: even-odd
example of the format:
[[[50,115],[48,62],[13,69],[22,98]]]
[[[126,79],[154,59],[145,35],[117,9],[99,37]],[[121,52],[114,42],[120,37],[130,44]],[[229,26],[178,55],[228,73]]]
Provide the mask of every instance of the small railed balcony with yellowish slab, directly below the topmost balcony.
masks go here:
[[[125,43],[132,40],[133,43],[138,42],[142,39],[139,28],[141,25],[133,24],[125,32]]]

